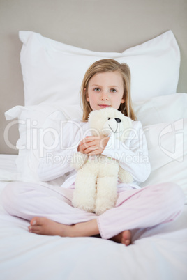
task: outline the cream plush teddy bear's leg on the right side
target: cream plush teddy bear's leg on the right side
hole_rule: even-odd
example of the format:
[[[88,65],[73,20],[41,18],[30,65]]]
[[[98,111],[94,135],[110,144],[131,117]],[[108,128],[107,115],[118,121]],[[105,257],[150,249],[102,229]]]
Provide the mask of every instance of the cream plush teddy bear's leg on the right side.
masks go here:
[[[117,162],[100,165],[97,182],[96,215],[113,208],[117,201],[119,164]]]

